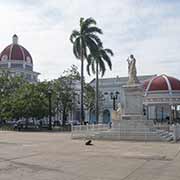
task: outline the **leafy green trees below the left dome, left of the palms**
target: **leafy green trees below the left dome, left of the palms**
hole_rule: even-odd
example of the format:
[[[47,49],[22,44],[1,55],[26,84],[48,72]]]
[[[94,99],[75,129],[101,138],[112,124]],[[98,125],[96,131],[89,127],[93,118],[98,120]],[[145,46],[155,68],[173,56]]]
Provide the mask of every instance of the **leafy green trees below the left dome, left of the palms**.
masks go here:
[[[50,82],[31,84],[22,77],[8,73],[0,76],[0,119],[41,119],[49,115],[48,89],[51,88],[52,115],[63,114],[64,123],[69,111],[75,107],[74,83],[80,80],[75,65]]]

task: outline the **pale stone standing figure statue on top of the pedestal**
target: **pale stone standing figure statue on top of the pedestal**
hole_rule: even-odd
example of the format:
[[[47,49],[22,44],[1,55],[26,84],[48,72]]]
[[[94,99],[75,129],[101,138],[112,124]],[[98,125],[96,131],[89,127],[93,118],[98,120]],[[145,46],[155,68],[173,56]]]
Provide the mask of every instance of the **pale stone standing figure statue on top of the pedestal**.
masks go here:
[[[129,80],[127,84],[138,84],[139,80],[137,78],[137,71],[136,71],[136,59],[131,54],[130,57],[127,59],[128,62],[128,75]]]

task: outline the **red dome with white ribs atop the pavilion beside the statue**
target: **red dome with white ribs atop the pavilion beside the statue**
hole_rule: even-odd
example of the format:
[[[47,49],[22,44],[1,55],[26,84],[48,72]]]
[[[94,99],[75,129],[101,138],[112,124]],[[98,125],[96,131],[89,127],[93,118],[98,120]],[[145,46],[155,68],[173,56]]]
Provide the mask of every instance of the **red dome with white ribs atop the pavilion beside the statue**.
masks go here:
[[[180,80],[167,75],[153,77],[144,82],[145,91],[173,91],[180,90]]]

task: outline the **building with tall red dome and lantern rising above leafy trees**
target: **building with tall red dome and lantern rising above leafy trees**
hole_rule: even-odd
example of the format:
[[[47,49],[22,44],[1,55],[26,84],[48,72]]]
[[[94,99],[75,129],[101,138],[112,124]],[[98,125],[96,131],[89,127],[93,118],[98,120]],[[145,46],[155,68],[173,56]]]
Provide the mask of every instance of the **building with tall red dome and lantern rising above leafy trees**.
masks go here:
[[[29,82],[38,81],[38,72],[33,71],[31,54],[18,43],[18,36],[12,37],[12,44],[8,45],[0,54],[0,73],[9,72],[11,76],[23,76]]]

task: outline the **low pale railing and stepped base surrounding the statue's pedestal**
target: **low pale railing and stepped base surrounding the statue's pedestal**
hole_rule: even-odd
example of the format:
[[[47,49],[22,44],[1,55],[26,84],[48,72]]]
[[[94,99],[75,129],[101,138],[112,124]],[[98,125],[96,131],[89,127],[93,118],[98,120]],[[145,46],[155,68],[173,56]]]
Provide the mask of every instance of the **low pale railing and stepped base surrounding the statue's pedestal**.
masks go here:
[[[170,125],[154,125],[153,121],[121,121],[116,127],[109,124],[92,124],[72,126],[72,139],[104,139],[104,140],[140,140],[169,141],[173,131],[169,133]],[[168,130],[167,130],[168,129]],[[176,130],[177,131],[177,130]],[[180,135],[180,129],[177,131]]]

